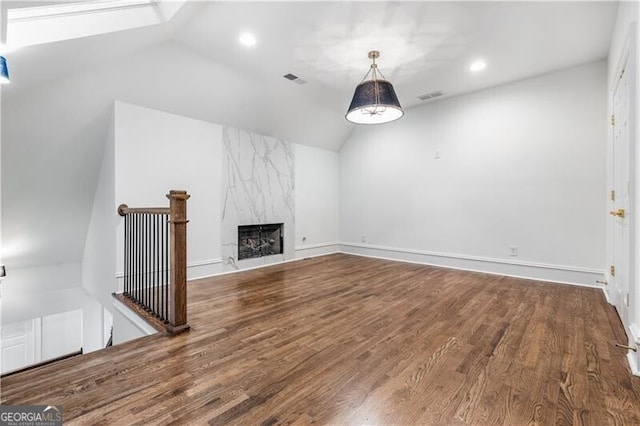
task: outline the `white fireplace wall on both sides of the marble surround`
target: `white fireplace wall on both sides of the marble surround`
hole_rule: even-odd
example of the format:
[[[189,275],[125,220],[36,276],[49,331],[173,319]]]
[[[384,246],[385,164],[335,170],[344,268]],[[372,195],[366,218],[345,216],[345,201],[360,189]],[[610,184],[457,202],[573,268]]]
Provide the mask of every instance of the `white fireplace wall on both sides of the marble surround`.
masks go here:
[[[222,126],[124,102],[115,103],[115,204],[168,205],[170,189],[185,189],[188,275],[222,272]],[[338,241],[338,154],[293,144],[296,257],[335,252]],[[114,207],[115,211],[115,207]],[[117,273],[122,274],[122,220]],[[306,236],[305,242],[302,237]]]

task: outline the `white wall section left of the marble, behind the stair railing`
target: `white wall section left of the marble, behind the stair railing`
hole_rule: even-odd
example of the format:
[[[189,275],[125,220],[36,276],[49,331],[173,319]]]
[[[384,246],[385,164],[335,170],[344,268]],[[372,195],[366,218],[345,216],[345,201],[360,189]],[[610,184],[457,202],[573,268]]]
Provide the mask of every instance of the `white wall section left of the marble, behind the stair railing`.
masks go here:
[[[168,207],[186,190],[189,278],[220,270],[222,126],[124,102],[115,103],[115,204]],[[123,272],[124,221],[117,226],[117,272]]]

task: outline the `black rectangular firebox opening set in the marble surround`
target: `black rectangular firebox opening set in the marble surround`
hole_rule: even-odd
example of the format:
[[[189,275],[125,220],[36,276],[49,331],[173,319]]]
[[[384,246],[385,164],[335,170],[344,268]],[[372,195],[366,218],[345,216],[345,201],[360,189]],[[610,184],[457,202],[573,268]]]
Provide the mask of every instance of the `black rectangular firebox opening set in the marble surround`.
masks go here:
[[[238,260],[284,253],[282,223],[238,226]]]

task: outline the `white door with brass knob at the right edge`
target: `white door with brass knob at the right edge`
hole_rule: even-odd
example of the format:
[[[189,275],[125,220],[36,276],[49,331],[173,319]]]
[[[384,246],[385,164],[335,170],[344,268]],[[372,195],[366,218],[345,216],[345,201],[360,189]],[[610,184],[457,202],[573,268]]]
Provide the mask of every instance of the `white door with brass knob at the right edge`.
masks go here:
[[[630,72],[626,69],[627,54],[620,67],[613,93],[613,190],[611,220],[613,229],[613,265],[611,270],[611,299],[622,323],[629,324],[629,221],[630,207]]]

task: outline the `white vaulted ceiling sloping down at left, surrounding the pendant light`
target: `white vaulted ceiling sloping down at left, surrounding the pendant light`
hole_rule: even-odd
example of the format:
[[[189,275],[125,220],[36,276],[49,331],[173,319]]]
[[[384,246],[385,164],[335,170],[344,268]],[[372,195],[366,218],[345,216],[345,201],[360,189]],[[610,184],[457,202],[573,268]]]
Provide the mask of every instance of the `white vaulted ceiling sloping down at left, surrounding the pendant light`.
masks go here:
[[[3,260],[81,261],[114,99],[337,151],[355,128],[344,114],[369,50],[381,51],[380,69],[411,114],[416,97],[434,90],[454,95],[605,58],[616,10],[611,2],[192,2],[166,24],[8,53]],[[256,46],[237,42],[245,30]],[[472,75],[477,57],[488,67]]]

